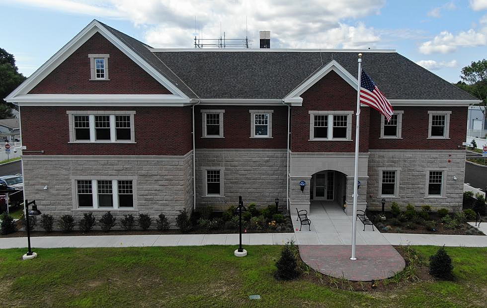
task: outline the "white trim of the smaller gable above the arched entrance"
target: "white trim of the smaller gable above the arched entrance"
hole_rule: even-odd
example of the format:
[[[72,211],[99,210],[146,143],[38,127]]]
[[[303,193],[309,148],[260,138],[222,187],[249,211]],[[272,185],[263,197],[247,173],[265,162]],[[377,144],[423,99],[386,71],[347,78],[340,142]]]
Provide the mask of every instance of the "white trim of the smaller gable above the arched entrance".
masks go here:
[[[306,90],[311,88],[319,80],[321,80],[326,74],[334,71],[338,76],[340,76],[344,81],[346,81],[352,88],[357,89],[358,81],[352,74],[350,74],[343,66],[341,66],[335,60],[331,60],[322,69],[308,78],[304,83],[295,88],[291,93],[289,93],[284,99],[284,103],[302,103],[303,99],[300,97]]]

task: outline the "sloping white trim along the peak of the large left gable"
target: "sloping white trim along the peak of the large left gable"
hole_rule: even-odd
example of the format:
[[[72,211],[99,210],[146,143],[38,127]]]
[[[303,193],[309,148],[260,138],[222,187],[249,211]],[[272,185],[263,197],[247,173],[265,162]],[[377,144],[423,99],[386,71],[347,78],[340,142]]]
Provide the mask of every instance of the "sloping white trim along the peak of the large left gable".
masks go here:
[[[91,21],[84,29],[81,30],[72,40],[63,46],[54,56],[52,56],[46,63],[44,63],[37,71],[35,71],[27,80],[18,86],[12,93],[10,93],[6,100],[8,102],[16,102],[15,97],[18,95],[27,95],[37,84],[46,78],[55,68],[57,68],[64,60],[71,56],[78,48],[81,47],[93,34],[100,33],[123,53],[125,53],[132,61],[139,65],[144,71],[156,79],[162,86],[169,90],[172,94],[184,99],[189,99],[181,90],[173,85],[167,78],[162,76],[154,67],[148,64],[132,49],[125,45],[121,40],[108,31],[97,20]]]

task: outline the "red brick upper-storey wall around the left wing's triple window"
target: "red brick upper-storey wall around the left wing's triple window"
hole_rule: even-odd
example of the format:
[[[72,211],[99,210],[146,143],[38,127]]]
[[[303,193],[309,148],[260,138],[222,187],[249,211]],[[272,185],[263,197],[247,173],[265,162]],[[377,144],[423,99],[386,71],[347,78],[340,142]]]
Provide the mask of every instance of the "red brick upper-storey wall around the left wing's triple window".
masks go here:
[[[135,110],[135,144],[69,143],[67,110]],[[21,107],[22,143],[44,155],[184,155],[191,107]],[[40,154],[24,152],[24,155]]]

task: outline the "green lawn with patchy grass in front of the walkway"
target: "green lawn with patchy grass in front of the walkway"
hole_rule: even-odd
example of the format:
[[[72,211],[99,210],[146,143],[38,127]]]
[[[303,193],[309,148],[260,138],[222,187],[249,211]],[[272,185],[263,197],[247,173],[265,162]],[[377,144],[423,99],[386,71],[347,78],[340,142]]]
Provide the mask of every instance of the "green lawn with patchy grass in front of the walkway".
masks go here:
[[[331,289],[309,279],[278,282],[281,246],[0,250],[1,307],[481,307],[487,248],[447,247],[454,282],[406,283],[383,292]],[[425,259],[438,247],[416,246]],[[304,274],[303,274],[304,275]],[[250,301],[258,294],[261,300]]]

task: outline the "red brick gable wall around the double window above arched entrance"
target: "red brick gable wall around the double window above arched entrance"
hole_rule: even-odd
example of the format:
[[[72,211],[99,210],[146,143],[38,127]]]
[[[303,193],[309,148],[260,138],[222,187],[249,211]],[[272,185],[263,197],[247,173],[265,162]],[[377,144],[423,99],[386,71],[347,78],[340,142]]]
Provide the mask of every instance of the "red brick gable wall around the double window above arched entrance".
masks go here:
[[[292,118],[292,152],[355,152],[354,141],[309,141],[310,110],[353,111],[352,140],[355,140],[355,110],[357,91],[338,74],[331,71],[303,95],[303,105],[293,107]],[[360,152],[368,151],[369,108],[360,113]]]

